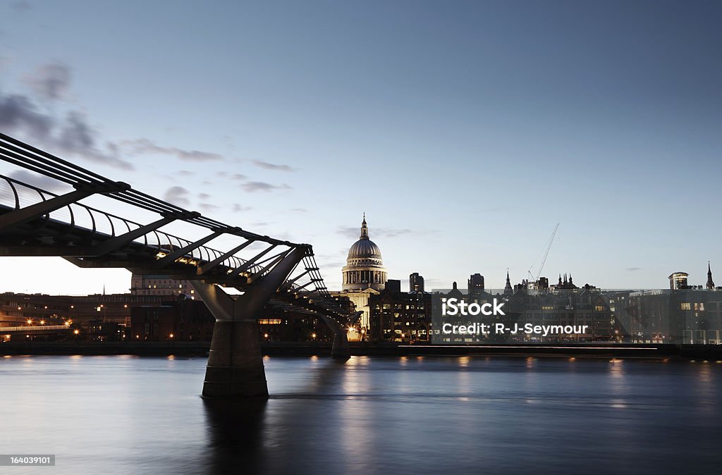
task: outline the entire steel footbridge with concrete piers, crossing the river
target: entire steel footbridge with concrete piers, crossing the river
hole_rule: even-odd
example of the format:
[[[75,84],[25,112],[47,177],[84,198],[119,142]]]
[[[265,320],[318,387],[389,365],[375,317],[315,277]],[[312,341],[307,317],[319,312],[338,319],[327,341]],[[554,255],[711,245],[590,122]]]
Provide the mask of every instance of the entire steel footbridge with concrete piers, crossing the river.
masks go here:
[[[0,159],[45,188],[0,175],[0,256],[191,282],[216,319],[204,397],[269,396],[257,329],[267,306],[323,319],[332,356],[349,357],[346,328],[360,312],[331,297],[311,245],[227,225],[1,133]]]

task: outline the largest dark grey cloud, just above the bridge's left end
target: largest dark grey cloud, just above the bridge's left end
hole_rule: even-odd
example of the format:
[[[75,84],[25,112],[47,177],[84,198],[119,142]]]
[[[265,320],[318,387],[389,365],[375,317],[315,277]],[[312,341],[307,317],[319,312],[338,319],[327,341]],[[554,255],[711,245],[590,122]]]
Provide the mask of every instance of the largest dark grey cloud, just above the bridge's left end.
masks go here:
[[[70,111],[63,119],[56,120],[40,112],[30,97],[3,95],[0,92],[0,128],[7,134],[19,133],[38,142],[33,145],[56,149],[59,153],[84,158],[111,167],[131,170],[133,165],[118,157],[118,147],[105,142],[105,149],[98,146],[99,136],[81,113]]]

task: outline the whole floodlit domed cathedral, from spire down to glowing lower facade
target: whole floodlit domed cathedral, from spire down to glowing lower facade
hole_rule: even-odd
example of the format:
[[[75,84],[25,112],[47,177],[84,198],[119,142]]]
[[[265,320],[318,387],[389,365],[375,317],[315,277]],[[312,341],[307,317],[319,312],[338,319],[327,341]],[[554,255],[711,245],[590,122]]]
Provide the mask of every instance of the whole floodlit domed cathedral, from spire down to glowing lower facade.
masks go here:
[[[361,235],[349,248],[342,277],[342,291],[331,293],[348,297],[355,309],[362,312],[358,334],[349,334],[349,339],[360,339],[369,330],[369,298],[378,295],[386,286],[386,268],[383,266],[381,250],[369,238],[366,214],[361,223]]]

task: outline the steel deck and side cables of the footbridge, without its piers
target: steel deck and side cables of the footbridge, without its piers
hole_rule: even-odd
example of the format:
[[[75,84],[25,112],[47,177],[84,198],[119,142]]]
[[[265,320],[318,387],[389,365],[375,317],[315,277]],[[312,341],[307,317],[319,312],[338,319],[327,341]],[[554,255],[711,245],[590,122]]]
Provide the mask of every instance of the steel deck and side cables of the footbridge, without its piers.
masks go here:
[[[0,175],[0,256],[61,256],[81,267],[126,268],[136,274],[167,275],[241,291],[262,282],[284,260],[303,256],[271,304],[349,321],[347,311],[323,283],[311,245],[204,217],[1,133],[0,159],[43,178],[43,183],[69,188],[56,194]],[[155,215],[155,219],[137,222],[80,202],[97,197],[123,204],[120,207],[129,209],[129,216]],[[162,230],[178,223],[191,225],[193,234],[203,237],[183,238]],[[219,240],[234,243],[210,247]]]

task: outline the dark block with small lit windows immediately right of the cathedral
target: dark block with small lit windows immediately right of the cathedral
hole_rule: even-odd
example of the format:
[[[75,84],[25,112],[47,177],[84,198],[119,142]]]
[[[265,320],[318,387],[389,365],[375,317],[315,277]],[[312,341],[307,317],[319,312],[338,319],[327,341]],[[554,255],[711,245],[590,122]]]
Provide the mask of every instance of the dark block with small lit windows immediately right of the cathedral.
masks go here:
[[[431,294],[401,292],[401,281],[388,280],[386,287],[369,299],[373,341],[429,341],[431,338]]]

